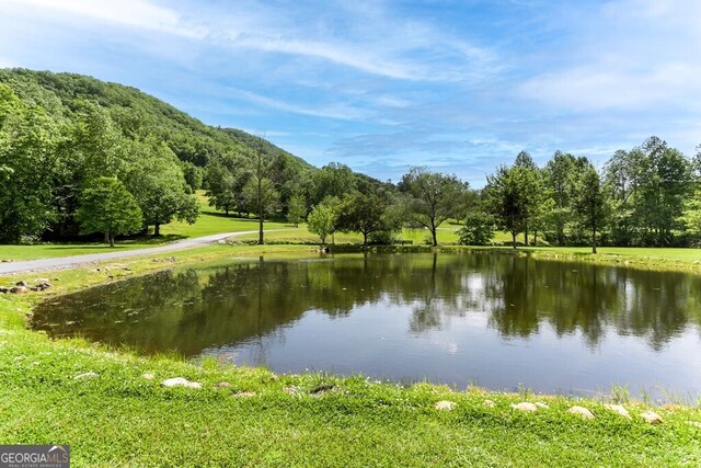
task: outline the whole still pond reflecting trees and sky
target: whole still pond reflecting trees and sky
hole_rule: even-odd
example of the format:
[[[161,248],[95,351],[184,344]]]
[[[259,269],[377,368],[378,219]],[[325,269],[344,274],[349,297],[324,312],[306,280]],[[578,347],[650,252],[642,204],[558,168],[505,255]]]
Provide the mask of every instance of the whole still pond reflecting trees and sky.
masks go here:
[[[165,271],[54,298],[32,327],[275,372],[696,399],[700,323],[701,276],[462,253]]]

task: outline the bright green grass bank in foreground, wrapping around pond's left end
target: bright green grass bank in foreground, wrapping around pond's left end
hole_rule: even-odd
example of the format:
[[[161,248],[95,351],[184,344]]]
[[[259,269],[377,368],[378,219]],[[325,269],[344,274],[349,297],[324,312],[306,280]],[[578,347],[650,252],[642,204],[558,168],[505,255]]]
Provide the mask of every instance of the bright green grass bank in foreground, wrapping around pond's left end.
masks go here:
[[[51,341],[24,327],[38,300],[106,281],[227,256],[310,251],[211,246],[54,272],[48,293],[0,295],[0,443],[70,444],[73,466],[104,467],[701,464],[696,408],[656,408],[665,422],[651,425],[641,416],[648,408],[636,402],[625,403],[629,420],[593,399],[274,375],[212,359],[194,365],[77,339]],[[34,277],[0,283],[18,279]],[[161,385],[173,377],[202,388]],[[455,404],[438,410],[439,401]],[[512,408],[522,401],[549,408]],[[596,418],[570,414],[574,404]]]

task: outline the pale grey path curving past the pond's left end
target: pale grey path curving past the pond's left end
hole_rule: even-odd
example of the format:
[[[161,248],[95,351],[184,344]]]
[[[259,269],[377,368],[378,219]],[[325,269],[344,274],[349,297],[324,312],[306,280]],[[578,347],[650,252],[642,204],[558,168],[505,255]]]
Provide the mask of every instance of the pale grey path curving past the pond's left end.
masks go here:
[[[245,236],[250,233],[257,233],[258,231],[243,231],[243,232],[222,232],[211,236],[204,236],[194,239],[179,240],[165,246],[150,247],[147,249],[134,249],[125,251],[114,251],[105,253],[88,253],[84,255],[71,255],[59,256],[55,259],[39,259],[27,260],[24,262],[7,262],[0,263],[0,275],[10,273],[22,273],[37,270],[57,270],[66,269],[68,266],[78,265],[81,263],[99,262],[102,260],[115,260],[126,259],[128,256],[150,255],[152,253],[172,252],[175,250],[192,249],[194,247],[203,247],[208,243],[217,242],[218,240],[228,239],[231,237]],[[273,231],[266,231],[273,232]]]

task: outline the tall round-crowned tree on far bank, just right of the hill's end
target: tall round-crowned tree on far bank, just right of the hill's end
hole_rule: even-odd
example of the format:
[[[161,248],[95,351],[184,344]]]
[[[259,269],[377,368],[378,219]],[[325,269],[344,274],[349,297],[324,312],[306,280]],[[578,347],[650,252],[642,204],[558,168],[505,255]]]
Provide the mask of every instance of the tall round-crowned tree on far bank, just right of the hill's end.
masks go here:
[[[434,246],[438,246],[438,227],[456,215],[468,189],[468,183],[457,175],[429,172],[426,168],[412,168],[399,183],[410,218],[430,231]]]

